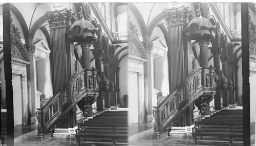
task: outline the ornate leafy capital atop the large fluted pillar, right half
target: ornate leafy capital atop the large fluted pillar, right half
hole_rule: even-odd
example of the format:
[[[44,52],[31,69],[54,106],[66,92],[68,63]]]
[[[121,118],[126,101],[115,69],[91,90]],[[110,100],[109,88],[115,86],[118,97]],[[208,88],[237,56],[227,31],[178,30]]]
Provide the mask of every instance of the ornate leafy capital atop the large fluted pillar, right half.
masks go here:
[[[167,25],[186,24],[193,19],[193,11],[189,7],[164,9]]]

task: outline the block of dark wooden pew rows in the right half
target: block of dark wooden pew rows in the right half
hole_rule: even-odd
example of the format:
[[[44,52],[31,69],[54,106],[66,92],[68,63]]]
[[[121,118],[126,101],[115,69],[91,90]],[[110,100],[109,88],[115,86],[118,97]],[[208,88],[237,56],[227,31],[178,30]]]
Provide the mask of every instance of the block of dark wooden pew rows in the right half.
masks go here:
[[[243,110],[221,110],[196,122],[192,136],[200,145],[243,145]]]

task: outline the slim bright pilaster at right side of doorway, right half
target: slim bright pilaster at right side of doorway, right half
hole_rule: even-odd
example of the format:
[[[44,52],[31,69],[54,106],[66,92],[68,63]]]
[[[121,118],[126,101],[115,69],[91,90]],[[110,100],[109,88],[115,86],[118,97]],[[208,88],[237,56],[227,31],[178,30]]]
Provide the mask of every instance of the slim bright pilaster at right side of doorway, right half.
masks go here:
[[[142,79],[143,73],[137,72],[138,80],[138,123],[144,122],[144,82]]]

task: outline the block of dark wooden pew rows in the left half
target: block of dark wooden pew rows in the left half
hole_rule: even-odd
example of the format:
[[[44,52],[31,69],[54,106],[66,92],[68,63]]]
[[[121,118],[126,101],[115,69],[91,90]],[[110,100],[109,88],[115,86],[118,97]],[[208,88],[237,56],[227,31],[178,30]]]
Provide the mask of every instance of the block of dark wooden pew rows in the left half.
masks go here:
[[[76,140],[92,145],[128,145],[128,112],[104,111],[78,124]]]

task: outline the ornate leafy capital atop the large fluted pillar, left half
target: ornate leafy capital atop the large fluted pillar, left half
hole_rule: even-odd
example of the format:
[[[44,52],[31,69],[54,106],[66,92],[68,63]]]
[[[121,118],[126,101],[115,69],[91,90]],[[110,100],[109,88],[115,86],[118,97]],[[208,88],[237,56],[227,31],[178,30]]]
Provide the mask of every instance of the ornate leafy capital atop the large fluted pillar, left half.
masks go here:
[[[60,27],[60,26],[70,26],[72,23],[75,22],[76,17],[72,10],[55,10],[52,12],[47,12],[45,14],[46,18],[48,19],[48,22],[50,24],[50,28],[54,27]]]

